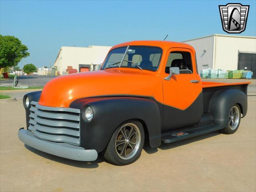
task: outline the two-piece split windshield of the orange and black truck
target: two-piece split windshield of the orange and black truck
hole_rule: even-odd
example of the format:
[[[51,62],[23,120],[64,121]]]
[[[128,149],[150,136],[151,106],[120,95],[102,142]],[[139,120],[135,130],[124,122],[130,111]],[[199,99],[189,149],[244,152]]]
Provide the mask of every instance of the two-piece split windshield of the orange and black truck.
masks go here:
[[[125,54],[125,56],[124,56]],[[156,71],[162,50],[157,47],[128,46],[116,48],[108,54],[102,69],[125,67]]]

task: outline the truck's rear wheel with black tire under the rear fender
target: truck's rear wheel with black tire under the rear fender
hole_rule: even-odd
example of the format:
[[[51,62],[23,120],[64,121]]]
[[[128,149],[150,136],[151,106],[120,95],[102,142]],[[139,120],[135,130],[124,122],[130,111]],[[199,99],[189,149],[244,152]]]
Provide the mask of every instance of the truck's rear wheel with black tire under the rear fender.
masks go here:
[[[232,122],[233,122],[233,119],[230,118],[230,114],[231,114],[231,110],[236,110],[236,120],[235,120],[235,126],[232,126]],[[237,117],[238,116],[238,117]],[[224,134],[233,134],[235,133],[237,130],[238,130],[238,127],[240,125],[240,121],[241,121],[241,110],[240,110],[240,106],[238,104],[235,104],[234,106],[232,106],[230,108],[230,111],[229,111],[229,114],[228,114],[228,126],[225,127],[224,129],[220,130],[221,133],[224,133]],[[231,120],[231,122],[230,122]]]

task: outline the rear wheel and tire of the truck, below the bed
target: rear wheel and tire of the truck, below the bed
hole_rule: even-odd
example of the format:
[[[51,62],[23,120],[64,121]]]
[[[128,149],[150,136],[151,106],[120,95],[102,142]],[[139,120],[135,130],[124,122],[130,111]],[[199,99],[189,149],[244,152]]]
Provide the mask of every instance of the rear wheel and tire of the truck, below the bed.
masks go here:
[[[228,126],[222,129],[221,132],[224,134],[233,134],[238,129],[240,120],[241,120],[241,110],[239,105],[235,104],[230,109],[230,112],[228,115]]]

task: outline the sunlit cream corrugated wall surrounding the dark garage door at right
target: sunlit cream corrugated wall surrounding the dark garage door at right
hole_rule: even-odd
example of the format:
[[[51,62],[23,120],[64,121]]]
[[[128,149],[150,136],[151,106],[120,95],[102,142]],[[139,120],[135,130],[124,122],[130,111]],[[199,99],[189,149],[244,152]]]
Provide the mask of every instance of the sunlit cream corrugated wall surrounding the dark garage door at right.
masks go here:
[[[216,35],[214,69],[237,70],[238,51],[256,52],[256,38]]]

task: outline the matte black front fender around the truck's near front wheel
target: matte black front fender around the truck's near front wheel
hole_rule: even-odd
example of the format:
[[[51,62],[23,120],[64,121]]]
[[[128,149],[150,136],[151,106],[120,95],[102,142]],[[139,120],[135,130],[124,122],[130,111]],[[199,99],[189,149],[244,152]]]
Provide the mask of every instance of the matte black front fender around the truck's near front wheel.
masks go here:
[[[90,106],[94,112],[91,122],[83,120],[84,110]],[[123,122],[142,120],[148,130],[151,147],[161,144],[161,115],[158,104],[150,98],[101,97],[82,98],[70,104],[81,111],[81,146],[101,152],[112,134]]]

